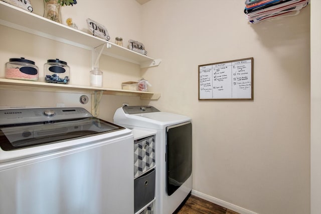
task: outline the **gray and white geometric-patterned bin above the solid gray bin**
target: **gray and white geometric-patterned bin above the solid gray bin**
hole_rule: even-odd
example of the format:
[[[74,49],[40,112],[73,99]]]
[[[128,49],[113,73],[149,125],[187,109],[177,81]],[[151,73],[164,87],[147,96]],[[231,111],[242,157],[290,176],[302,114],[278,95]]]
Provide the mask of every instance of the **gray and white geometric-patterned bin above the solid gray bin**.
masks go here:
[[[155,165],[155,135],[134,141],[134,178]]]

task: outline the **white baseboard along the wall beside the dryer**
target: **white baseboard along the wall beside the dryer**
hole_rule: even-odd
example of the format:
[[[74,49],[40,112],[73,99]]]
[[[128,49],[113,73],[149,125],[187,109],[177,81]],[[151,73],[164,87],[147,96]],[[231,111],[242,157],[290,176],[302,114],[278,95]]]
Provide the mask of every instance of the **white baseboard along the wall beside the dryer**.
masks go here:
[[[252,212],[248,209],[242,208],[240,206],[234,205],[232,203],[226,202],[224,200],[218,199],[216,197],[204,194],[202,192],[196,191],[194,189],[192,189],[192,195],[195,195],[197,197],[203,198],[204,200],[208,200],[212,203],[215,203],[217,205],[223,206],[225,208],[231,209],[233,211],[239,212],[241,214],[258,214],[256,212]]]

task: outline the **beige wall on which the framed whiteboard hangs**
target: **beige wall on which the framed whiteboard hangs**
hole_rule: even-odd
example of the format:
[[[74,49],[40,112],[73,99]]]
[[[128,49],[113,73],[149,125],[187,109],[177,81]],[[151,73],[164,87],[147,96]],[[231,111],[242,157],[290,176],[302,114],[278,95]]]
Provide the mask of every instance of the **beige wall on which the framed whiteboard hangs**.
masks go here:
[[[152,101],[193,118],[193,189],[257,213],[309,213],[309,7],[251,25],[244,1],[143,5]],[[198,65],[254,57],[253,101],[199,101]]]

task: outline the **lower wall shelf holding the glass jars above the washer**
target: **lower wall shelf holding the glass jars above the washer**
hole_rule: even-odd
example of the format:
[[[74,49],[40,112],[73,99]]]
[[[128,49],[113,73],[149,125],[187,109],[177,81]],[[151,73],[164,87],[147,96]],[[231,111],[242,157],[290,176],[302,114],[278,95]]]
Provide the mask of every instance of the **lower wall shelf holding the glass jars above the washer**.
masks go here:
[[[13,87],[15,86],[15,87]],[[69,84],[44,83],[23,80],[0,79],[0,89],[2,90],[23,90],[23,91],[44,91],[44,92],[64,92],[64,93],[86,93],[94,94],[101,91],[103,94],[118,96],[139,96],[141,100],[158,100],[161,94],[144,91],[130,91],[112,88],[99,88],[91,86],[79,86]]]

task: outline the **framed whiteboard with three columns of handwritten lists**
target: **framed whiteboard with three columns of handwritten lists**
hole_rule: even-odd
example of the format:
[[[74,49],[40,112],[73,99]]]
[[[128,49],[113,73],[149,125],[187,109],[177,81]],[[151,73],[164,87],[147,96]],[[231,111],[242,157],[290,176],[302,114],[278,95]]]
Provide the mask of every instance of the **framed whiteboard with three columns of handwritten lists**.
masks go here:
[[[253,100],[254,59],[199,65],[199,100]]]

